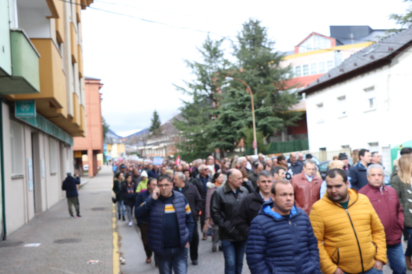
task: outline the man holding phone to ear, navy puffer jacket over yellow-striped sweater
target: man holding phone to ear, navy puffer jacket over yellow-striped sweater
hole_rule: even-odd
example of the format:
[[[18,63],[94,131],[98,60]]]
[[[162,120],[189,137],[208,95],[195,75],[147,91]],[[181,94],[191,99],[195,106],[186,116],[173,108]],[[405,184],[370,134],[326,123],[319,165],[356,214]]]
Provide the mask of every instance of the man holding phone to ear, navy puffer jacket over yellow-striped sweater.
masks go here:
[[[136,218],[147,214],[147,244],[155,253],[160,274],[187,273],[187,247],[193,235],[193,217],[185,196],[173,191],[171,177],[157,177],[152,195],[136,209]]]

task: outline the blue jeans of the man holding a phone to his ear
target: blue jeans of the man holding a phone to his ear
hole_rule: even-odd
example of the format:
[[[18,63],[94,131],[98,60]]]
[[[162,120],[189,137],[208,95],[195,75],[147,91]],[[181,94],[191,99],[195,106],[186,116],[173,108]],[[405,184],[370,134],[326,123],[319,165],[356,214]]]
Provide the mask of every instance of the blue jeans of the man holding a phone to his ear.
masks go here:
[[[160,274],[187,274],[187,247],[164,248],[163,254],[155,253]]]

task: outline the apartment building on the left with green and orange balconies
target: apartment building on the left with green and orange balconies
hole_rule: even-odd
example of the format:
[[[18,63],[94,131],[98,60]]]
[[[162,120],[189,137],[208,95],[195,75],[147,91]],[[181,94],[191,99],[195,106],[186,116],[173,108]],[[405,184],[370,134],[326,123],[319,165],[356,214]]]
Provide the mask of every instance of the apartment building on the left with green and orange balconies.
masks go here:
[[[0,0],[2,238],[64,197],[86,136],[81,10],[92,0]]]

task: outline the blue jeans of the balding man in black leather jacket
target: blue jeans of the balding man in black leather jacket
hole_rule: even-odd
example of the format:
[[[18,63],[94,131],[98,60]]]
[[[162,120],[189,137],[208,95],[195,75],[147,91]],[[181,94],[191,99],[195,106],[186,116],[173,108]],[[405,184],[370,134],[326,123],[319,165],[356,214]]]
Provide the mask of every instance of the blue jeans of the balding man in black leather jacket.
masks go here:
[[[223,256],[225,257],[225,274],[241,274],[246,241],[230,242],[222,240]]]

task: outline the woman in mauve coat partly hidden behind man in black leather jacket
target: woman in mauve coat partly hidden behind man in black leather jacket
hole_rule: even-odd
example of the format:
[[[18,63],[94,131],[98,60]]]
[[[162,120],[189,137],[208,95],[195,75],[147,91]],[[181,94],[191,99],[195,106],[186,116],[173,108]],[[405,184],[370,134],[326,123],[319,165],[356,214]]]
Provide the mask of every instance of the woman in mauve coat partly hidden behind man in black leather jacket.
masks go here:
[[[223,185],[223,174],[220,172],[216,172],[215,175],[213,175],[212,182],[207,182],[206,187],[207,187],[207,192],[206,192],[206,210],[205,210],[205,224],[203,227],[203,233],[206,233],[208,228],[212,228],[213,231],[213,236],[212,236],[212,251],[215,252],[218,242],[219,242],[219,227],[213,224],[213,221],[210,216],[210,200],[212,198],[213,192],[215,192],[216,189],[221,187]],[[221,247],[219,246],[219,249]]]

